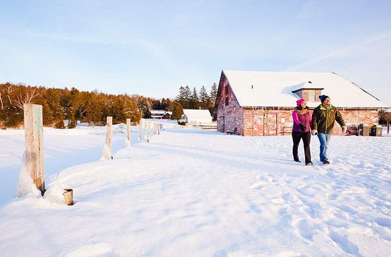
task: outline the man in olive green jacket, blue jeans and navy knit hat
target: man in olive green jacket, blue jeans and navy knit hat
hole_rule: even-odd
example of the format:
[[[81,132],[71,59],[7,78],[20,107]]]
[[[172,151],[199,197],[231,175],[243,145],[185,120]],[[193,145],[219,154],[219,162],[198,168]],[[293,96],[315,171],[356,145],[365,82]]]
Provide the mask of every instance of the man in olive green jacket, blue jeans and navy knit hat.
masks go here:
[[[339,110],[330,105],[330,98],[326,95],[319,96],[322,104],[316,107],[312,113],[312,131],[311,134],[318,135],[320,146],[320,158],[324,165],[330,164],[327,159],[327,145],[333,132],[334,122],[337,121],[341,126],[342,133],[345,133],[347,127]]]

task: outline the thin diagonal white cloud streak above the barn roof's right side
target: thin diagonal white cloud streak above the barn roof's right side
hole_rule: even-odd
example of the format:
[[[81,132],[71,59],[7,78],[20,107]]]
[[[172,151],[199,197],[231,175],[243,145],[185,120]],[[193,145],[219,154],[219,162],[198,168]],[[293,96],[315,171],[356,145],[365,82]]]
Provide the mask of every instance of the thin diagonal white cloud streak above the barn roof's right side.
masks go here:
[[[300,70],[301,68],[304,68],[306,66],[309,66],[309,65],[312,65],[312,64],[316,64],[316,63],[318,63],[320,61],[323,61],[323,60],[326,60],[326,59],[329,59],[329,58],[332,58],[332,57],[335,57],[335,56],[342,55],[342,54],[347,53],[347,52],[349,52],[351,50],[354,50],[355,48],[358,48],[360,46],[363,46],[363,45],[366,45],[366,44],[369,44],[369,43],[373,43],[373,42],[376,42],[376,41],[379,41],[379,40],[382,40],[382,39],[386,39],[386,38],[388,38],[390,36],[391,36],[391,32],[388,32],[388,33],[385,33],[383,35],[376,36],[376,37],[373,37],[371,39],[368,39],[368,40],[366,40],[364,42],[349,45],[349,46],[347,46],[345,48],[342,48],[341,50],[329,53],[329,54],[327,54],[325,56],[321,56],[321,57],[318,57],[318,58],[310,59],[310,60],[305,61],[305,62],[303,62],[301,64],[293,65],[293,66],[291,66],[289,68],[284,69],[283,71]]]

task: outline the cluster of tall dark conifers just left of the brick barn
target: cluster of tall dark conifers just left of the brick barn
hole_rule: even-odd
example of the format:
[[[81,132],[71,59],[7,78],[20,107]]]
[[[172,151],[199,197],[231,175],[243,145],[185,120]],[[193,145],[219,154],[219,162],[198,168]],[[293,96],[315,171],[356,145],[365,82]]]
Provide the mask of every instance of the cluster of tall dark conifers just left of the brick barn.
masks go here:
[[[202,86],[197,93],[197,90],[193,88],[193,91],[189,86],[179,87],[179,94],[175,100],[181,104],[184,109],[208,109],[213,114],[215,107],[215,100],[217,95],[217,85],[214,83],[211,86],[211,92],[208,94],[205,87]]]

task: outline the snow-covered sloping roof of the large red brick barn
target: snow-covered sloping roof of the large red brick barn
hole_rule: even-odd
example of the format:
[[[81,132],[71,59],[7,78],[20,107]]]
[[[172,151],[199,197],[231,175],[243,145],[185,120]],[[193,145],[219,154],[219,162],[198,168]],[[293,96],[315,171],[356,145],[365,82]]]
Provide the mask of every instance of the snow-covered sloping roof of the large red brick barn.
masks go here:
[[[300,88],[322,89],[322,94],[329,96],[331,104],[336,107],[388,107],[361,87],[335,73],[234,70],[222,70],[215,107],[218,106],[224,77],[242,107],[295,107],[300,97],[292,91]],[[307,102],[308,107],[319,104],[320,102]]]

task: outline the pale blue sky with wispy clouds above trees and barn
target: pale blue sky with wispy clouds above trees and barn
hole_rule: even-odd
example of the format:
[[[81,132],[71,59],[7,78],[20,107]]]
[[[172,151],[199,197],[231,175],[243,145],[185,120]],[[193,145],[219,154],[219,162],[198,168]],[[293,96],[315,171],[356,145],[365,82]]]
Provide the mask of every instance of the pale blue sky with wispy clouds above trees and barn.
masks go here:
[[[335,72],[391,106],[391,1],[1,0],[0,83],[175,97],[222,69]]]

